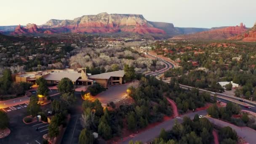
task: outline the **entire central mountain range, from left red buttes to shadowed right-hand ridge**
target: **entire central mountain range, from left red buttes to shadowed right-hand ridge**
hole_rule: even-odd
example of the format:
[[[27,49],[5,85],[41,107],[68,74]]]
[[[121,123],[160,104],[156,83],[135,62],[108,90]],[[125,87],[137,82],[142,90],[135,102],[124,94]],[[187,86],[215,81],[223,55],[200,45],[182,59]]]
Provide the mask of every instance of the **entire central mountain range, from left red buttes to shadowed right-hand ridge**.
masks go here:
[[[140,14],[108,14],[85,15],[73,20],[51,19],[45,24],[37,26],[28,24],[26,27],[17,26],[13,35],[22,34],[53,34],[63,32],[76,33],[120,33],[132,32],[141,35],[162,35],[173,37],[175,35],[201,32],[208,29],[178,28],[171,23],[147,21]]]

